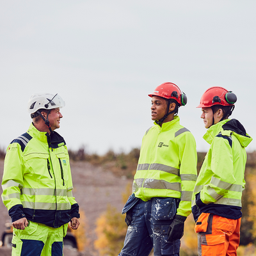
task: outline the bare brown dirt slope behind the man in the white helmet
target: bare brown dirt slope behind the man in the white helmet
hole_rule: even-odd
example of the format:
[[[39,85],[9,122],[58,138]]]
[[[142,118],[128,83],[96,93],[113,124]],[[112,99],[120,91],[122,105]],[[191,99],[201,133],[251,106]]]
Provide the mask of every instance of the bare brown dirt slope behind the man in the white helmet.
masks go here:
[[[86,216],[86,238],[88,245],[84,252],[77,253],[72,250],[66,252],[68,256],[97,256],[98,253],[93,247],[93,241],[97,238],[95,235],[95,221],[100,214],[106,211],[108,204],[116,207],[118,211],[122,211],[122,193],[125,192],[127,184],[132,183],[131,180],[120,179],[113,173],[104,171],[100,167],[92,166],[86,162],[72,162],[72,179],[73,179],[73,195],[81,211]],[[3,160],[0,160],[0,177],[3,176]],[[0,188],[0,193],[2,193]],[[4,231],[4,223],[10,221],[8,211],[1,200],[0,202],[0,239]],[[3,251],[2,251],[3,252]],[[0,255],[1,250],[0,250]],[[5,255],[5,254],[4,254]],[[8,254],[6,254],[8,256]]]

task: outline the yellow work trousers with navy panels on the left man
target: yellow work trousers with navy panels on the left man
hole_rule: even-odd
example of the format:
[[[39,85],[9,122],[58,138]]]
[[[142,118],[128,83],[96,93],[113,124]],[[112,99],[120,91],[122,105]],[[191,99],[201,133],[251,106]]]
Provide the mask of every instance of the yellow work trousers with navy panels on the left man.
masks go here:
[[[13,228],[12,256],[62,256],[68,224],[59,228],[29,221],[24,230]]]

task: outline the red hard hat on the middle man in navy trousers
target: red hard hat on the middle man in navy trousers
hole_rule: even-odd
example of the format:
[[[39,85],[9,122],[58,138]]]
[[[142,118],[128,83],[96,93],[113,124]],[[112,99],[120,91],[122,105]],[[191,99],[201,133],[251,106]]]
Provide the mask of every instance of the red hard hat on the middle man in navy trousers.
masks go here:
[[[187,96],[185,93],[180,91],[180,88],[173,83],[163,83],[157,86],[155,91],[148,94],[149,97],[159,96],[164,99],[173,99],[178,102],[180,106],[185,106],[187,104]]]

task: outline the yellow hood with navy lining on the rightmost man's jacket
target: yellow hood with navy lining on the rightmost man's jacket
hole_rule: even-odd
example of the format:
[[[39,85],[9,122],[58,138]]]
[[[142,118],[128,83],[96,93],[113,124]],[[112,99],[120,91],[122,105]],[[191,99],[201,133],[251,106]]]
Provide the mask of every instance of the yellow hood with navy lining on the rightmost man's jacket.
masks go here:
[[[215,136],[220,132],[226,134],[225,131],[230,131],[234,136],[236,136],[242,147],[247,147],[252,141],[252,137],[246,133],[243,125],[236,119],[226,119],[212,125],[204,134],[203,138],[207,143],[211,144]]]

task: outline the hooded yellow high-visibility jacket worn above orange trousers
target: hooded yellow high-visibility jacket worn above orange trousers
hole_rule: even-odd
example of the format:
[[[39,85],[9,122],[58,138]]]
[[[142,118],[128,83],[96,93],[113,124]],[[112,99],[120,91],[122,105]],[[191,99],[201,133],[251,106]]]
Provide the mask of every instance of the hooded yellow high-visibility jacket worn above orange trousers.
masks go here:
[[[211,144],[196,180],[192,211],[195,220],[202,212],[224,218],[241,218],[245,185],[245,147],[252,141],[243,125],[227,119],[212,125],[204,135]]]

